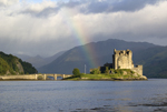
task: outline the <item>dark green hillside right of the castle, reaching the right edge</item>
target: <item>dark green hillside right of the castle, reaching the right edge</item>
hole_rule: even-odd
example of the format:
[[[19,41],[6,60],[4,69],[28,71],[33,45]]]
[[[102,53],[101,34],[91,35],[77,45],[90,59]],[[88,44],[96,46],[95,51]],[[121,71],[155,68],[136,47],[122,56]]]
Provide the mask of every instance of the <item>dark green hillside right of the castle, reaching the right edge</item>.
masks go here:
[[[154,47],[139,50],[134,60],[144,65],[144,75],[148,78],[167,78],[167,47]]]

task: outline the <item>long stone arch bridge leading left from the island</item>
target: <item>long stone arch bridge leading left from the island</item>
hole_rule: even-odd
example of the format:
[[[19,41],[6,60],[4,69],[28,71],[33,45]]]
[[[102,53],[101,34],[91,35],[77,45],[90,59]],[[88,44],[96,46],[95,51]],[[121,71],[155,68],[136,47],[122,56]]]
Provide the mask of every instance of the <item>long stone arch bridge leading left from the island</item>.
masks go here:
[[[47,80],[48,77],[53,77],[57,80],[58,77],[62,79],[71,77],[71,74],[22,74],[22,75],[0,75],[0,80]]]

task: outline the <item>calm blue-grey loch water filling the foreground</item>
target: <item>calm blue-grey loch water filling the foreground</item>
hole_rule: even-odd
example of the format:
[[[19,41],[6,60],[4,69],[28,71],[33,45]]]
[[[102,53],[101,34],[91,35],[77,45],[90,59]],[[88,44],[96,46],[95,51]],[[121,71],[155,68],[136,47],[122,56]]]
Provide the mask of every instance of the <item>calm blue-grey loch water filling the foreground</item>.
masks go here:
[[[0,81],[0,112],[166,112],[167,80]]]

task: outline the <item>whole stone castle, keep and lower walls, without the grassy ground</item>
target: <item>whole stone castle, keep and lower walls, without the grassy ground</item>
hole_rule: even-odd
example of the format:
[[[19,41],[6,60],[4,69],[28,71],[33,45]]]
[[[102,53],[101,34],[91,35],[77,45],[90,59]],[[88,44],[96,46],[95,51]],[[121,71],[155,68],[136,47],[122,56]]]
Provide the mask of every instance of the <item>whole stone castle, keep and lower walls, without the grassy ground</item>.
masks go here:
[[[138,75],[143,77],[143,65],[134,65],[132,62],[132,51],[131,50],[114,50],[112,54],[112,63],[106,63],[104,67],[99,67],[98,69],[101,71],[101,73],[105,73],[106,67],[108,69],[130,69]],[[90,72],[94,69],[90,69]],[[111,71],[110,71],[111,73]]]

